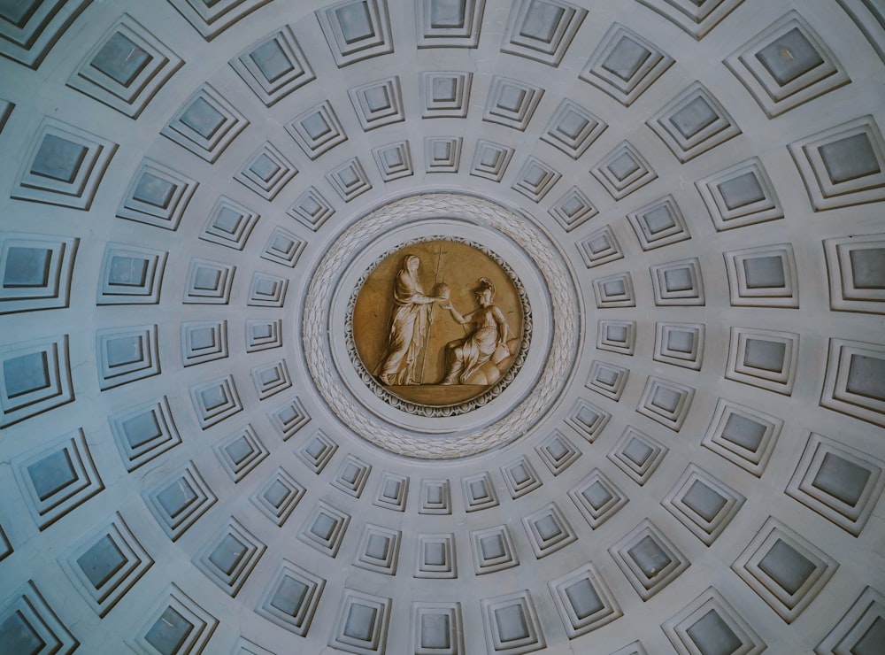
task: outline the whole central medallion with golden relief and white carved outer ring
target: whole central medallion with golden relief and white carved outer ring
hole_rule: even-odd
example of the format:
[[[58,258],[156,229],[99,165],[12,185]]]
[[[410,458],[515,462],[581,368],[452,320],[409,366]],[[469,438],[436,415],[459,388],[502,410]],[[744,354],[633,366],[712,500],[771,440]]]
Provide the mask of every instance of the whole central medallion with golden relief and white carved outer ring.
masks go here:
[[[509,443],[577,361],[581,298],[525,213],[427,193],[355,220],[304,298],[304,356],[355,435],[421,459]]]

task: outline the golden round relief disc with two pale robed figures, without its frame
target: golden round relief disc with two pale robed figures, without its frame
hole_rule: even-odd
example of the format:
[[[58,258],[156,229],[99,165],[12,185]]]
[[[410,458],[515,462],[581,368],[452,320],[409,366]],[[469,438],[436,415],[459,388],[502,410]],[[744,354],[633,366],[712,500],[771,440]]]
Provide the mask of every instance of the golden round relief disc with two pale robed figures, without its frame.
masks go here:
[[[467,243],[413,243],[381,260],[353,308],[366,369],[418,405],[456,405],[507,373],[523,337],[512,278]]]

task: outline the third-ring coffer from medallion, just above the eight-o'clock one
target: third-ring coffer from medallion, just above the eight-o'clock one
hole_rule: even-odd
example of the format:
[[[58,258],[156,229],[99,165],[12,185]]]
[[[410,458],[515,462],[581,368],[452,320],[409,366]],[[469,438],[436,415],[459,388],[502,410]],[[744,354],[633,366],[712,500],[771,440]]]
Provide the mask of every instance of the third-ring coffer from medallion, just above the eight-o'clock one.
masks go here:
[[[108,422],[123,466],[130,473],[181,443],[165,396],[112,413]]]

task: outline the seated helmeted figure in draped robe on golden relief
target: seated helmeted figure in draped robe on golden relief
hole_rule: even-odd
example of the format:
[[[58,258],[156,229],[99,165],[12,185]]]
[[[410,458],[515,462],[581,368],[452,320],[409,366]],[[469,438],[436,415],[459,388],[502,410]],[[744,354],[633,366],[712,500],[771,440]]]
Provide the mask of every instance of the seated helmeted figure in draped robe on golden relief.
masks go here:
[[[473,295],[480,306],[466,316],[451,304],[441,305],[461,325],[473,323],[473,330],[463,339],[446,344],[446,374],[440,384],[494,384],[501,374],[498,365],[512,355],[511,342],[514,346],[518,343],[510,337],[504,312],[493,304],[495,285],[481,277]]]

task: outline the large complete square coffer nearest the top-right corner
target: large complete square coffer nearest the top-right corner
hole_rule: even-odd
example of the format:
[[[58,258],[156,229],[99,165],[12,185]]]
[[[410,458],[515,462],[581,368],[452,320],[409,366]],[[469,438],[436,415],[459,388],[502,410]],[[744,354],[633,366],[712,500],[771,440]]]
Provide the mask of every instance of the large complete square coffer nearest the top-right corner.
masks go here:
[[[850,82],[833,52],[795,10],[744,43],[723,63],[768,118]]]

